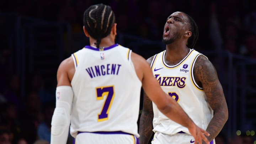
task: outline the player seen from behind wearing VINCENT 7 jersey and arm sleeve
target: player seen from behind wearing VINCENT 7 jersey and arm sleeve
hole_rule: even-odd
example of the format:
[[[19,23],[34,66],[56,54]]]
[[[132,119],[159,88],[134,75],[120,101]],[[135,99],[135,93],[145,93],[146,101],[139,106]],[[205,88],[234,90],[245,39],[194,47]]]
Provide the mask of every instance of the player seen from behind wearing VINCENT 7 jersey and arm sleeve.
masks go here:
[[[73,53],[58,68],[51,144],[66,143],[70,121],[76,144],[139,143],[141,86],[162,113],[188,128],[196,142],[209,143],[208,133],[162,91],[146,60],[114,43],[116,26],[110,6],[92,5],[84,12],[90,46]]]

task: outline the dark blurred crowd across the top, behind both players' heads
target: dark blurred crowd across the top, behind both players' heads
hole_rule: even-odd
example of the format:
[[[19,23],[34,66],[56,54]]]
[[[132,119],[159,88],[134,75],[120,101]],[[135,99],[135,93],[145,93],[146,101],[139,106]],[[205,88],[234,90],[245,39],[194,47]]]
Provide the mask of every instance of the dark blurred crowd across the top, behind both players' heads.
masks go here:
[[[161,40],[166,18],[183,11],[199,27],[197,49],[222,47],[232,53],[256,57],[255,0],[9,0],[1,1],[3,12],[46,21],[67,22],[75,33],[82,32],[84,10],[105,3],[116,13],[120,32]]]

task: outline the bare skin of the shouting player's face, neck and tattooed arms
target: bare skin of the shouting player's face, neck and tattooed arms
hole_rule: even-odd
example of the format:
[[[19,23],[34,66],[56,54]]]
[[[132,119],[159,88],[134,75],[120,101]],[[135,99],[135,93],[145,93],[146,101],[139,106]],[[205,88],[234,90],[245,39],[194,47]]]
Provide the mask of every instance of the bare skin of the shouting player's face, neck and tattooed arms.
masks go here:
[[[171,14],[165,23],[163,42],[166,43],[165,62],[168,65],[176,65],[189,52],[187,40],[192,32],[187,16],[182,12]],[[169,29],[169,34],[165,34]],[[147,59],[151,64],[153,57]],[[219,82],[217,72],[213,64],[203,55],[200,55],[194,65],[194,78],[206,93],[207,101],[214,111],[214,116],[210,121],[206,131],[210,134],[208,140],[213,140],[222,130],[228,119],[228,107],[223,93],[222,85]],[[140,144],[148,144],[153,134],[153,107],[152,102],[144,93],[143,111],[140,116],[139,134]],[[196,142],[195,142],[196,143]]]

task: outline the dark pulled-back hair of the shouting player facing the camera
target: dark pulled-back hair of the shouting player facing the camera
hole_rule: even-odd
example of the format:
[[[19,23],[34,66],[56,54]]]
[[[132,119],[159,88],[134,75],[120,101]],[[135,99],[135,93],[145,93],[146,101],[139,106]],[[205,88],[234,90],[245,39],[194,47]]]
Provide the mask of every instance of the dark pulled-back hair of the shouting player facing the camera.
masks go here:
[[[196,42],[198,39],[198,35],[199,35],[198,26],[191,16],[189,16],[185,12],[182,12],[182,13],[188,17],[188,21],[189,21],[188,23],[190,24],[189,27],[190,27],[190,31],[192,32],[192,35],[190,38],[188,38],[187,47],[192,49],[196,45]]]

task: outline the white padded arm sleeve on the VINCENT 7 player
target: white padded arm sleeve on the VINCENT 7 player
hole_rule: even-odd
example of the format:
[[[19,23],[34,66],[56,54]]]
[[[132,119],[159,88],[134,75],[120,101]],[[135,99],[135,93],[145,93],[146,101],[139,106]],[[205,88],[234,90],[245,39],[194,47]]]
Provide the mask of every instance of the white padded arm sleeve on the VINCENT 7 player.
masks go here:
[[[66,144],[74,93],[71,86],[56,88],[56,107],[52,117],[50,144]]]

